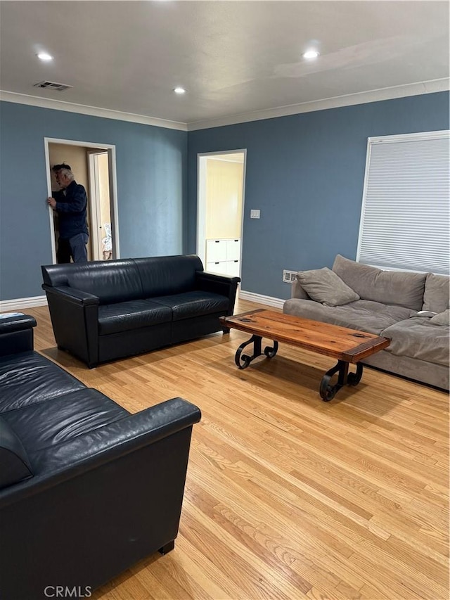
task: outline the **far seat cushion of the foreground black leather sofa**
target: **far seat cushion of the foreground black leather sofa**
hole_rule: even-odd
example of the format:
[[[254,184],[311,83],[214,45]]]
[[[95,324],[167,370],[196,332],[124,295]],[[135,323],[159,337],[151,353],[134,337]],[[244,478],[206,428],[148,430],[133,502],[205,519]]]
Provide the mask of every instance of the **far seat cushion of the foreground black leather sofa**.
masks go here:
[[[85,387],[35,352],[4,357],[0,362],[0,386],[0,413]]]

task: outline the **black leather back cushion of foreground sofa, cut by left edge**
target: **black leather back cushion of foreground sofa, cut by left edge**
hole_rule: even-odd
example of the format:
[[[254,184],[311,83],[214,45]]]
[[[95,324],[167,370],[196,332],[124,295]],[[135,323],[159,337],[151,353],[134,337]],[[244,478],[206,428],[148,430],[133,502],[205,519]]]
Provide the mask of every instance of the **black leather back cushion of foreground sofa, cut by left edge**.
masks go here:
[[[0,416],[0,489],[32,476],[32,468],[20,438]]]

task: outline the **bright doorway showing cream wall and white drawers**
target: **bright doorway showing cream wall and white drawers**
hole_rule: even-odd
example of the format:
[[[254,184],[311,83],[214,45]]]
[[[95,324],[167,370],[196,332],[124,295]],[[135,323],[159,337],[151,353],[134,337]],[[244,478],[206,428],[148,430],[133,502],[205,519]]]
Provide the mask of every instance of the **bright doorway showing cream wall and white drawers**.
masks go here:
[[[245,150],[198,155],[197,253],[205,271],[240,276]]]

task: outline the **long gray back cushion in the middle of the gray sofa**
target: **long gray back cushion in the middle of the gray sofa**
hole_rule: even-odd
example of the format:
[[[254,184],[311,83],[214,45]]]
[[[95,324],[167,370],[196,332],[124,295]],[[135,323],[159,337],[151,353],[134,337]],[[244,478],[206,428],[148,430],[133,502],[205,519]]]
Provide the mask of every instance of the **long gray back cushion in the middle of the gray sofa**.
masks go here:
[[[382,271],[338,254],[333,271],[364,300],[422,309],[426,273]]]

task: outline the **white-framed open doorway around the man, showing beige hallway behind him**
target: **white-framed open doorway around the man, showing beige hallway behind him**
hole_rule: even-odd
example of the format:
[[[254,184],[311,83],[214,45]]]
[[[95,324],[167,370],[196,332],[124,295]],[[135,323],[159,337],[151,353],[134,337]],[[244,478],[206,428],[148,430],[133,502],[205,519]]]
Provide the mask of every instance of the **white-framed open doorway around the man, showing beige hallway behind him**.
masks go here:
[[[58,189],[51,166],[65,162],[88,196],[88,260],[110,260],[119,255],[115,146],[44,138],[47,186]],[[58,216],[49,207],[53,264],[56,263]]]

